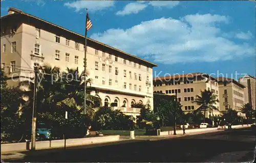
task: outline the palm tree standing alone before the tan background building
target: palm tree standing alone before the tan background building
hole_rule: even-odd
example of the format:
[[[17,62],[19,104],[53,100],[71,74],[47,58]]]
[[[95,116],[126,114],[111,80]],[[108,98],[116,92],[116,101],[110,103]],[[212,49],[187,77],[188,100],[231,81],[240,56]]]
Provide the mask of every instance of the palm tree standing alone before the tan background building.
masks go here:
[[[218,110],[218,108],[216,106],[214,106],[214,104],[216,104],[217,102],[219,102],[219,100],[216,100],[216,95],[213,94],[212,91],[210,90],[201,90],[201,96],[197,95],[195,101],[193,101],[193,103],[196,103],[198,105],[200,105],[199,109],[203,109],[204,110],[204,122],[205,122],[205,113],[206,110]]]

